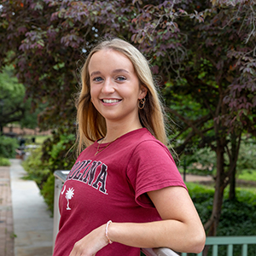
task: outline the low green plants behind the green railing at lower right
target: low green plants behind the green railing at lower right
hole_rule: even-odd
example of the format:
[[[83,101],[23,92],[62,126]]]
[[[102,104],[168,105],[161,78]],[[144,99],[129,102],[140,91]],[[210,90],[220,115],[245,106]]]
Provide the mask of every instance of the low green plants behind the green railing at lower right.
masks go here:
[[[212,213],[214,189],[207,189],[195,183],[186,183],[202,223],[206,223]],[[245,189],[236,189],[236,201],[228,199],[225,191],[222,213],[219,219],[217,236],[255,236],[256,194]],[[254,251],[253,251],[254,250]],[[248,247],[248,255],[253,255],[255,246]],[[195,255],[189,253],[189,255]],[[208,255],[212,255],[209,251]],[[218,256],[225,256],[226,247],[219,247]],[[234,247],[234,256],[241,255],[241,247]]]

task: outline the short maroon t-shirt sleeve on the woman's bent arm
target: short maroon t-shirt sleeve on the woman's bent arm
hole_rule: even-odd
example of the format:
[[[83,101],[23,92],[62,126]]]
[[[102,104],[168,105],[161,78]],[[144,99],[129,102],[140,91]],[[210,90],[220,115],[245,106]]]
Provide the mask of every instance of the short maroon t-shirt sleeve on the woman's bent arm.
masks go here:
[[[149,191],[169,186],[187,189],[168,148],[154,140],[137,145],[127,167],[127,177],[135,190],[137,204],[146,208],[154,207],[147,195]]]

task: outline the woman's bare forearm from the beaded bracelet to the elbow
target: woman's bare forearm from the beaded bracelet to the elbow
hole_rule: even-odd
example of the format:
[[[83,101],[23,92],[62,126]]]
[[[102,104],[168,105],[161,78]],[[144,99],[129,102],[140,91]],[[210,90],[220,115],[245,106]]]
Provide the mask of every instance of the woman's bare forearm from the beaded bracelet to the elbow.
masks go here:
[[[177,220],[112,223],[108,227],[108,237],[131,247],[170,247],[177,252],[198,253],[203,248],[205,235],[201,227],[196,230]]]

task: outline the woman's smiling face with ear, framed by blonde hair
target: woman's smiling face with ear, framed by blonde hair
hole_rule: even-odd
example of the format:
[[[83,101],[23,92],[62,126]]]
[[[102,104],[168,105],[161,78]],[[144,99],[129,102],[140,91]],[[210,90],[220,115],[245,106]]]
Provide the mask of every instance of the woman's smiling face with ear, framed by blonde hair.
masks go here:
[[[137,122],[138,99],[147,90],[140,85],[131,61],[113,49],[102,49],[91,56],[90,74],[91,102],[108,121],[129,124]]]

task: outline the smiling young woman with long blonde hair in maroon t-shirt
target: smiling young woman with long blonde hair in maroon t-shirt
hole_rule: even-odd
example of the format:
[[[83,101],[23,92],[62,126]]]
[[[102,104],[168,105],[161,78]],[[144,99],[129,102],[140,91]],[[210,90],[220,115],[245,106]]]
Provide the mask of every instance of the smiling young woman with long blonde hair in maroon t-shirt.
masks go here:
[[[79,154],[60,195],[54,256],[200,253],[205,232],[172,155],[148,61],[120,39],[90,52],[77,102]]]

